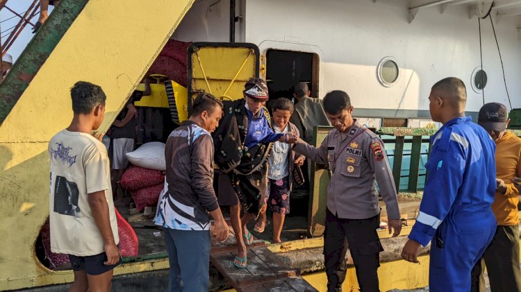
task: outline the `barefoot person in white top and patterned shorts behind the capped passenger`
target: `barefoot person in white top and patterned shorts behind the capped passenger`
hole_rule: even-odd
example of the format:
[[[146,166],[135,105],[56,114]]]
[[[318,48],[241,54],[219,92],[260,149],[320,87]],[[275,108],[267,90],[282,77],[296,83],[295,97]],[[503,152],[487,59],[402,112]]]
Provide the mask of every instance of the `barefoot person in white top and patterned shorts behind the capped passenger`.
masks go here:
[[[275,133],[292,132],[299,136],[297,126],[290,123],[293,103],[288,98],[279,98],[273,103],[272,126]],[[273,242],[281,242],[282,225],[286,214],[290,213],[290,191],[292,189],[292,173],[295,165],[304,164],[304,155],[292,151],[293,144],[276,141],[268,160],[267,173],[267,208],[273,212]],[[266,212],[261,212],[261,219],[255,230],[263,232],[266,225]]]

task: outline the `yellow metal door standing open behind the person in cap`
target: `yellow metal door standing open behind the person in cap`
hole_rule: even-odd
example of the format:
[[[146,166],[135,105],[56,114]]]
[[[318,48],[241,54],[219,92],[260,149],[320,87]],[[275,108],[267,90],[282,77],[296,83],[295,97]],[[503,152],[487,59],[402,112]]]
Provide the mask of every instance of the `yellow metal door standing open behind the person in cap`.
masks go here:
[[[188,113],[199,92],[222,101],[242,98],[249,78],[258,77],[259,51],[255,44],[195,42],[188,47]]]

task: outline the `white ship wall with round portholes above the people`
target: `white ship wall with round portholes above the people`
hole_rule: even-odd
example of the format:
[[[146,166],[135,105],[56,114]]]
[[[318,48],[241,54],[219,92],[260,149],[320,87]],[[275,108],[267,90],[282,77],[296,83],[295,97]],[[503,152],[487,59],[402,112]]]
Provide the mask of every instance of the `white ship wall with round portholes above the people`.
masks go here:
[[[176,40],[227,42],[229,1],[197,1],[183,19]],[[424,8],[408,23],[408,1],[378,0],[247,0],[238,1],[236,41],[267,49],[317,53],[319,96],[342,89],[361,116],[429,117],[427,97],[441,78],[461,78],[468,91],[469,112],[477,112],[483,96],[471,87],[480,65],[478,19],[464,5]],[[218,8],[218,9],[217,9]],[[519,18],[495,22],[506,84],[513,108],[521,108],[521,41]],[[490,26],[481,20],[483,69],[488,74],[485,102],[507,105],[501,63]],[[399,80],[383,87],[377,65],[386,56],[397,60]]]

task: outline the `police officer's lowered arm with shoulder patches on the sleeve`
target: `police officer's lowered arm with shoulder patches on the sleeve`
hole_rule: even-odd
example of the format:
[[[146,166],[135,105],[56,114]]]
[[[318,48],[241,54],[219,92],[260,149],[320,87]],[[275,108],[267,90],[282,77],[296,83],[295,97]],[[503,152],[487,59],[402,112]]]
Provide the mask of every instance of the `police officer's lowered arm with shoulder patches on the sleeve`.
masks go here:
[[[379,137],[374,137],[369,148],[365,149],[365,151],[368,151],[367,160],[377,178],[383,201],[386,203],[388,223],[390,225],[389,234],[394,229],[393,237],[397,237],[402,230],[402,221],[399,220],[400,212],[395,179],[392,177],[389,160],[383,148],[383,141]]]

